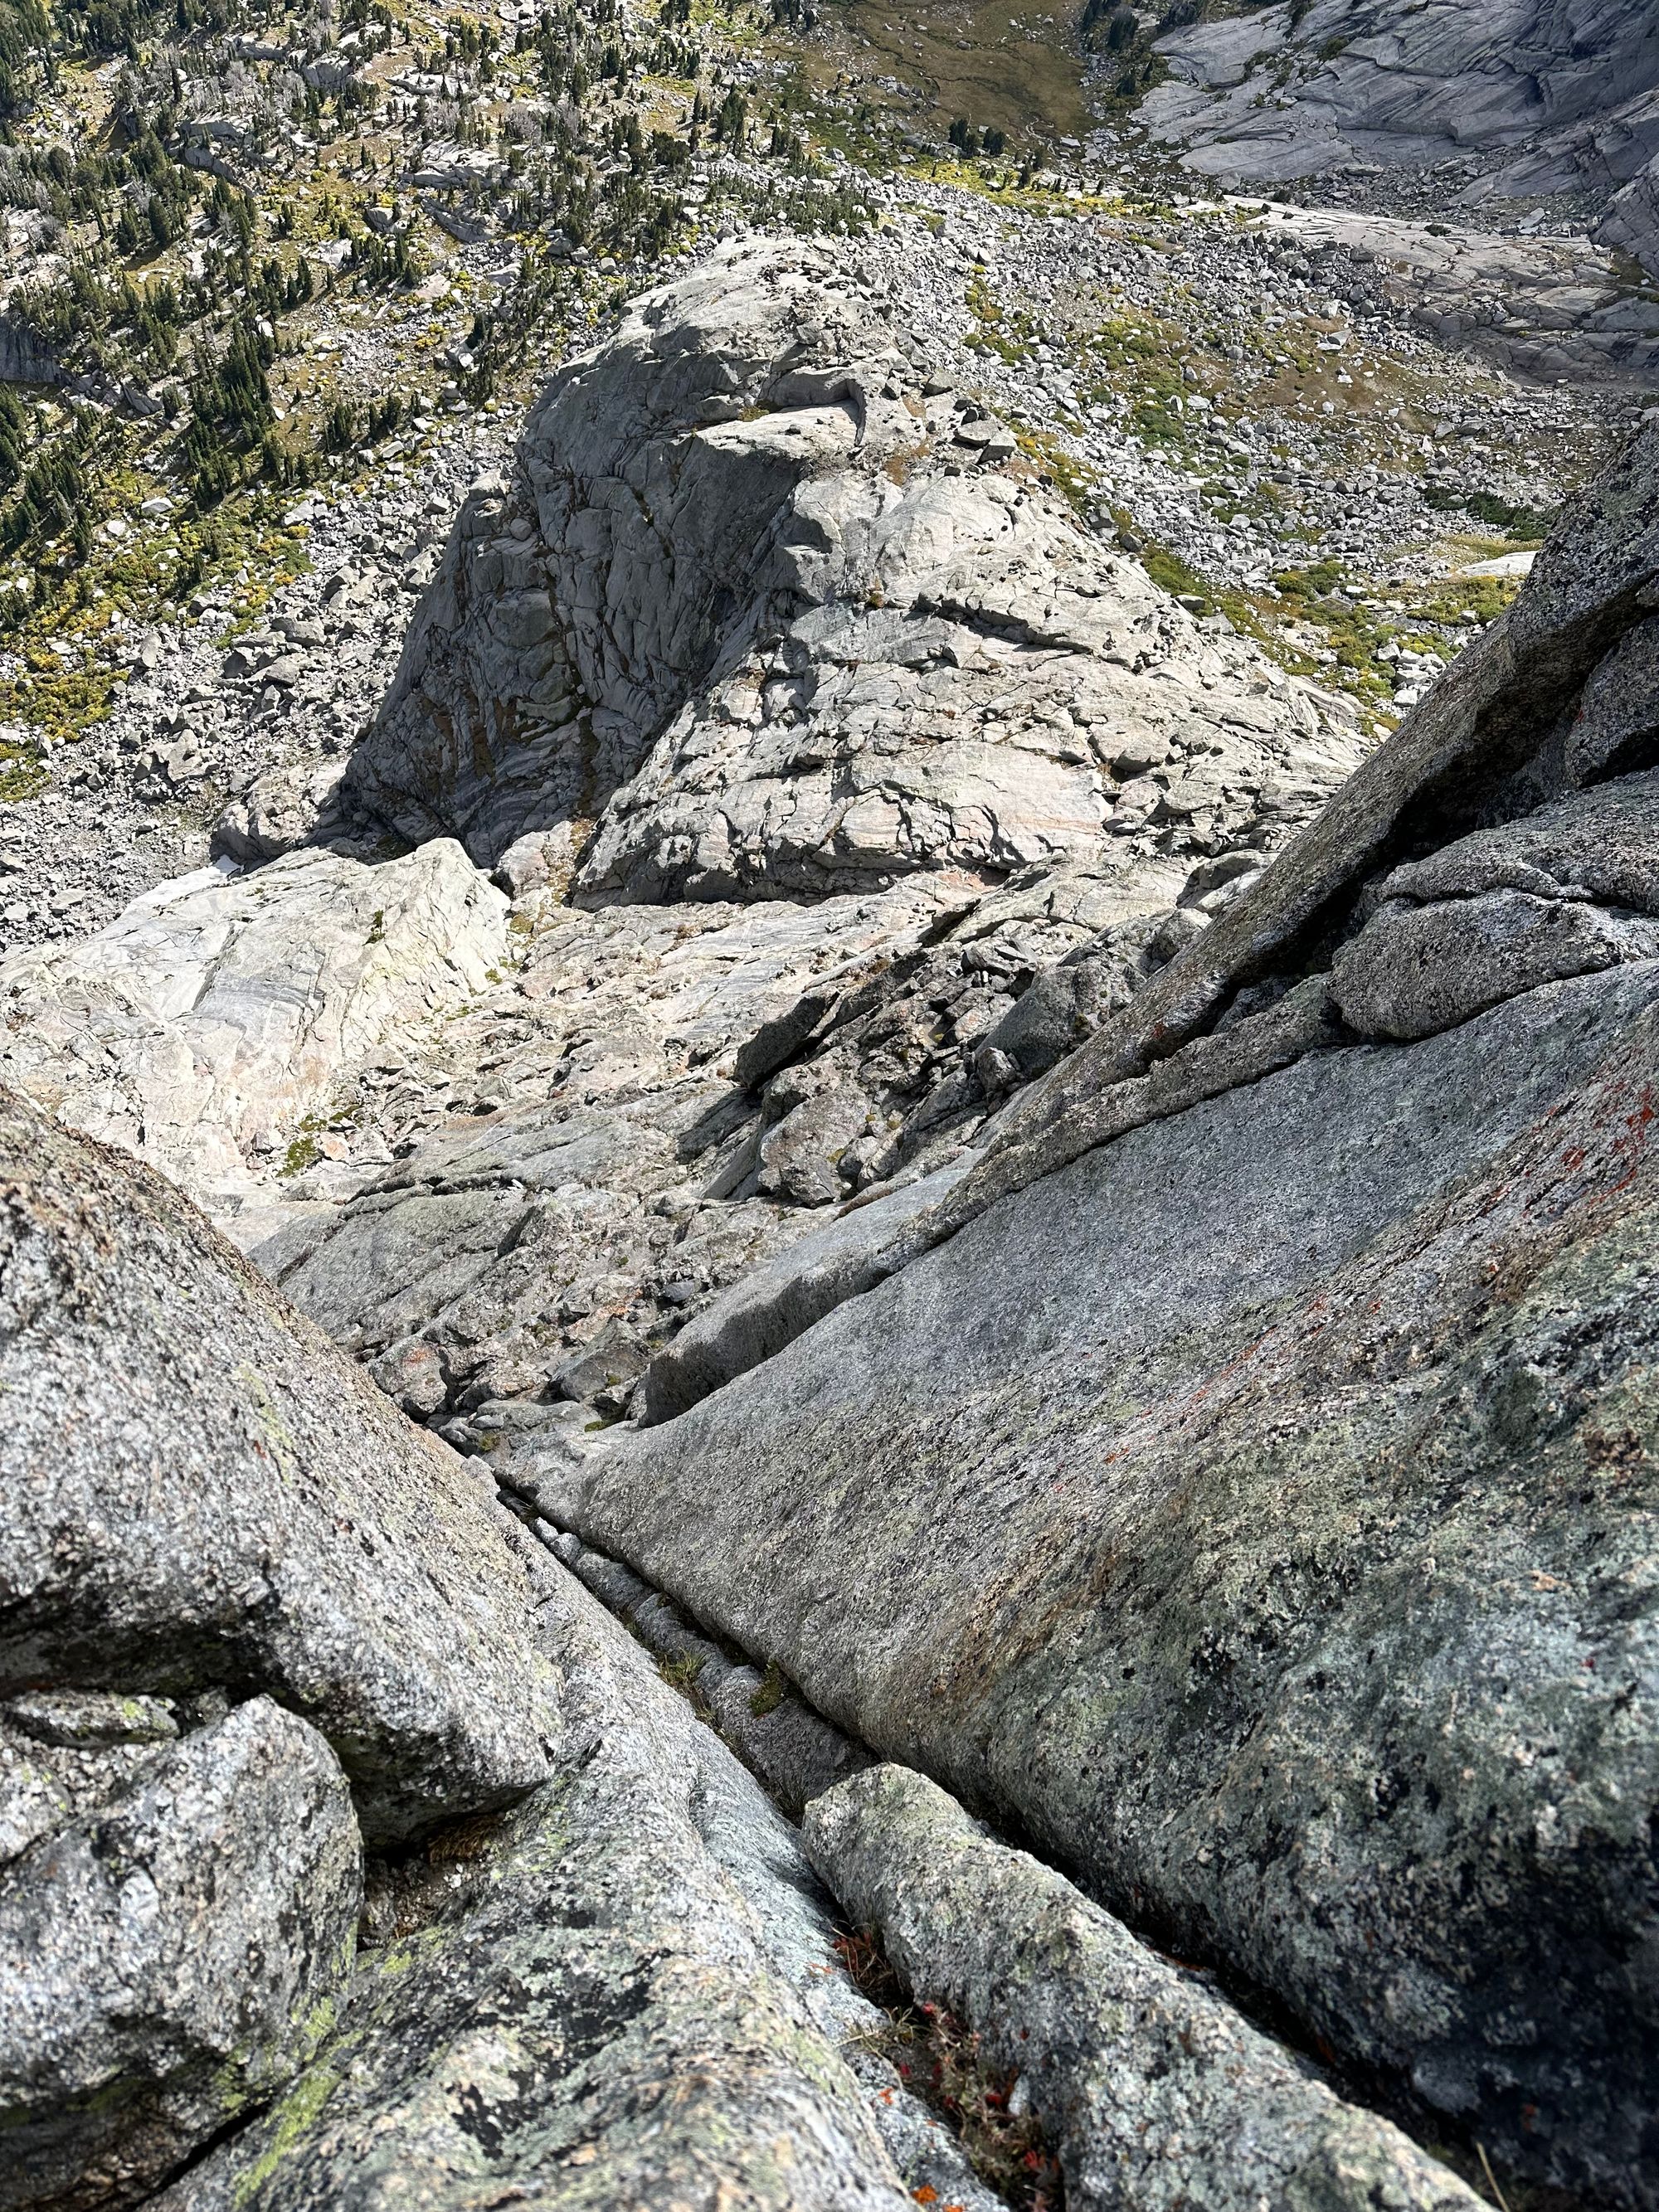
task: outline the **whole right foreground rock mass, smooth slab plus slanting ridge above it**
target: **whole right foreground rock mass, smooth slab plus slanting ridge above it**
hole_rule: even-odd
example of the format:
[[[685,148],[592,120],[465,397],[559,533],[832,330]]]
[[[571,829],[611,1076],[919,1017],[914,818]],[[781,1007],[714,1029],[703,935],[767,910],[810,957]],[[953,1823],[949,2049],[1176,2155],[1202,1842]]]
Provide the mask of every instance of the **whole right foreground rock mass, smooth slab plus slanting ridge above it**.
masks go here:
[[[509,1460],[1179,1955],[1621,2205],[1659,962],[1655,770],[1597,701],[1639,697],[1657,462],[843,1303],[710,1310],[675,1418]]]

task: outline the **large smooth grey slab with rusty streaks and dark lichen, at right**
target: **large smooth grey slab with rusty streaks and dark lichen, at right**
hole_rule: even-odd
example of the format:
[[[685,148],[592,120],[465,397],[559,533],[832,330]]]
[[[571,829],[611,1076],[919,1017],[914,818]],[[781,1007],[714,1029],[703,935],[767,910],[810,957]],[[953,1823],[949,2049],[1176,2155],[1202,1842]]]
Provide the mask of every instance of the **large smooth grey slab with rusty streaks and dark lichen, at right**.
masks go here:
[[[1655,991],[1135,1130],[546,1504],[1181,1955],[1630,2194]]]

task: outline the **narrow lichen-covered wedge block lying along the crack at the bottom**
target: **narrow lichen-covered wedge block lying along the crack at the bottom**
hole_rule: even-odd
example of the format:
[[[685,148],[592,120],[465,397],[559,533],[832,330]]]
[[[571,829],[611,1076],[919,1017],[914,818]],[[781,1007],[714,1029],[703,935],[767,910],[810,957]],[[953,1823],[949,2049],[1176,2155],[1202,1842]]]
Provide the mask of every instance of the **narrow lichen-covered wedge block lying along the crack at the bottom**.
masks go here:
[[[807,1807],[805,1843],[911,1991],[973,2022],[1020,2077],[1073,2212],[1482,2203],[925,1776],[836,1783]]]

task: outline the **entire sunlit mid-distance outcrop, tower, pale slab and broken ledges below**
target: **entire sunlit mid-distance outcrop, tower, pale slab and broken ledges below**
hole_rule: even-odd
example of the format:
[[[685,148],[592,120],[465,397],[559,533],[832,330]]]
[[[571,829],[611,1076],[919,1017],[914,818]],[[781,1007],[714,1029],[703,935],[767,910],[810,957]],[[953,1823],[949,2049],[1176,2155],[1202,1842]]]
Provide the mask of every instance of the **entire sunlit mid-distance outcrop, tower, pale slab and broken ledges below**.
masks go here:
[[[774,243],[553,380],[341,801],[500,860],[509,927],[440,836],[186,878],[0,973],[11,1077],[422,1420],[613,1418],[816,1214],[960,1164],[1363,757],[911,352]]]

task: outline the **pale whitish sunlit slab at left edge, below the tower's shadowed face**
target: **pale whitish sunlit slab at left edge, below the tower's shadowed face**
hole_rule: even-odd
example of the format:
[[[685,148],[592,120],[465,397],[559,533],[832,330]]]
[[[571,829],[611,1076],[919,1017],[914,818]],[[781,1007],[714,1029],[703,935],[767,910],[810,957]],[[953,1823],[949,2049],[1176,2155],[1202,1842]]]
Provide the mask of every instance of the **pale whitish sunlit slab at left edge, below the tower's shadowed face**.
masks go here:
[[[0,960],[0,1077],[234,1203],[387,1033],[480,989],[504,938],[507,900],[453,843],[204,869],[95,938]]]

